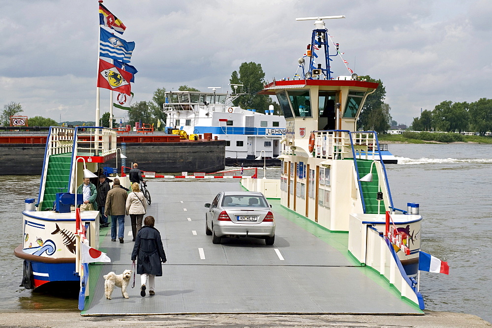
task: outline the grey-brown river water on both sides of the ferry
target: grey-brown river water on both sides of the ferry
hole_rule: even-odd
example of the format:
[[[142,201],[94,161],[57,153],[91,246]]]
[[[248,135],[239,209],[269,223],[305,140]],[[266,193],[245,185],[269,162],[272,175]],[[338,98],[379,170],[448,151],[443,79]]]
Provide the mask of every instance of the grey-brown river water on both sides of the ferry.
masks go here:
[[[387,165],[395,207],[419,203],[422,250],[447,261],[450,274],[421,273],[426,310],[471,313],[492,322],[492,145],[389,145],[400,164]],[[237,169],[237,168],[236,168]],[[278,178],[278,168],[267,168]],[[263,170],[258,170],[258,178]],[[76,311],[77,300],[18,287],[24,199],[36,198],[39,176],[2,176],[0,193],[0,311]],[[224,182],[226,182],[224,180]]]

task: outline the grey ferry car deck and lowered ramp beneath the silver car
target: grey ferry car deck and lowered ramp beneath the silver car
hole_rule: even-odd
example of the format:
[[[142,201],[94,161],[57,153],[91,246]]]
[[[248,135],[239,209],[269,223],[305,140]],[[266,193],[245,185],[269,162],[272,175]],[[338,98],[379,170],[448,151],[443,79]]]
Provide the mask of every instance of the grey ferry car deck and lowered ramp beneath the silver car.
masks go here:
[[[230,181],[230,180],[229,180]],[[155,296],[140,296],[140,276],[130,298],[115,289],[104,296],[104,274],[131,268],[130,219],[125,239],[112,242],[101,232],[100,249],[111,263],[90,266],[90,296],[82,315],[204,313],[423,314],[406,302],[379,274],[350,257],[348,234],[330,233],[280,206],[273,205],[276,237],[223,238],[213,244],[205,235],[205,203],[219,191],[243,190],[238,182],[210,180],[148,182],[167,263],[155,278]],[[132,280],[133,282],[133,275]]]

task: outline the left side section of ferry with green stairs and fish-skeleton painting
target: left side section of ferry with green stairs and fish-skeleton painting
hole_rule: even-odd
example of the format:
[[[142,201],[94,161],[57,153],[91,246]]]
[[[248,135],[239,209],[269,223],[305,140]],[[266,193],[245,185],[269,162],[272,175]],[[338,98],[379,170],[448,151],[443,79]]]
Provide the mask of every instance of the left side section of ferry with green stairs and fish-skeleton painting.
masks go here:
[[[80,211],[77,187],[84,178],[97,183],[98,165],[116,157],[116,131],[103,127],[49,129],[35,199],[22,212],[22,243],[14,255],[24,260],[21,286],[49,290],[53,282],[81,282],[81,242],[99,247],[99,211]],[[77,200],[77,201],[76,201]]]

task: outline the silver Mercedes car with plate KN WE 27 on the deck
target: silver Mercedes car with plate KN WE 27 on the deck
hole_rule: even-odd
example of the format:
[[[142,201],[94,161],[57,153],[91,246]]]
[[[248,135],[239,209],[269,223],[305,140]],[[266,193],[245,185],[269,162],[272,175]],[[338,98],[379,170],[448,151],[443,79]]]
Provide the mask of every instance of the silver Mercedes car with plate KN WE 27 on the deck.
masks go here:
[[[275,241],[275,219],[271,205],[261,192],[220,192],[205,214],[205,233],[219,244],[222,237],[254,237]]]

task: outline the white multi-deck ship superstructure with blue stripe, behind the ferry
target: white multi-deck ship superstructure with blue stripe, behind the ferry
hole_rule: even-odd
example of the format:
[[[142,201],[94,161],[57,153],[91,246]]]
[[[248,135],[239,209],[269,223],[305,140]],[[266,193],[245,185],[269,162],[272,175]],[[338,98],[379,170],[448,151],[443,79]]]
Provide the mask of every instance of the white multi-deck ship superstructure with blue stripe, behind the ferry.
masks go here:
[[[210,92],[166,92],[166,130],[226,140],[226,166],[278,166],[284,117],[274,115],[273,105],[264,114],[235,106],[233,101],[245,93],[242,85],[231,87],[232,93],[217,92],[220,87],[211,87]]]

